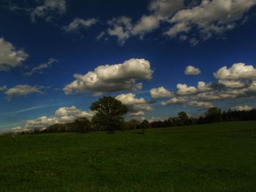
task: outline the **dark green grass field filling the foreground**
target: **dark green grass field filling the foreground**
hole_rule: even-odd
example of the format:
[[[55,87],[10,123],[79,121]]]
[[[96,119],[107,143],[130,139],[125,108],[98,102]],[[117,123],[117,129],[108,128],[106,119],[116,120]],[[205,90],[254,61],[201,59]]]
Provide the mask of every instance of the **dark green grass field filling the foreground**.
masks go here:
[[[0,191],[256,191],[256,122],[1,136]]]

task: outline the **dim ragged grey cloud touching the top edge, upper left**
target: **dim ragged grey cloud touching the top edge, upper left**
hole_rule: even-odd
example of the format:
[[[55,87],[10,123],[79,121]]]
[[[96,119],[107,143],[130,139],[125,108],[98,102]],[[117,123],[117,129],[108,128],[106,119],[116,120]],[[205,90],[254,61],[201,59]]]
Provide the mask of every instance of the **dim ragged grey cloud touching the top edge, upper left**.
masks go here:
[[[66,0],[44,0],[43,4],[35,7],[30,14],[32,22],[37,22],[37,18],[44,18],[50,22],[56,15],[66,13]]]

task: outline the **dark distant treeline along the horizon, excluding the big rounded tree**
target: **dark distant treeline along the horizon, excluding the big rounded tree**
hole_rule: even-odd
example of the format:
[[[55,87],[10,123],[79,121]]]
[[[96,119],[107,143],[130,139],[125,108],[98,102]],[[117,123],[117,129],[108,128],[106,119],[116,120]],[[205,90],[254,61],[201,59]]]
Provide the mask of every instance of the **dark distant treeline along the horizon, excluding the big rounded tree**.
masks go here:
[[[115,130],[141,129],[143,132],[146,128],[163,128],[171,126],[189,126],[205,123],[219,123],[227,121],[256,120],[256,109],[249,111],[228,110],[223,111],[217,107],[211,107],[199,118],[189,118],[186,112],[178,112],[178,116],[168,118],[167,120],[148,120],[132,119],[123,121]],[[108,131],[106,126],[98,126],[94,119],[79,118],[72,123],[59,123],[44,129],[34,129],[34,134],[56,133],[56,132],[78,132],[88,133],[91,131]]]

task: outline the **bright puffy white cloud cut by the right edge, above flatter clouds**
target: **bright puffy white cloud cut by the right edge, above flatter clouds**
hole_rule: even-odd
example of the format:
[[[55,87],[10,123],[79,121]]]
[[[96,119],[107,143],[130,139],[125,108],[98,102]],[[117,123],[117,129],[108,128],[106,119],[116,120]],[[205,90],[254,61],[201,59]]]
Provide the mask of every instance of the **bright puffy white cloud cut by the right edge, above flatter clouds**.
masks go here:
[[[238,63],[229,69],[223,66],[214,73],[214,77],[219,80],[256,80],[256,69],[252,65]]]

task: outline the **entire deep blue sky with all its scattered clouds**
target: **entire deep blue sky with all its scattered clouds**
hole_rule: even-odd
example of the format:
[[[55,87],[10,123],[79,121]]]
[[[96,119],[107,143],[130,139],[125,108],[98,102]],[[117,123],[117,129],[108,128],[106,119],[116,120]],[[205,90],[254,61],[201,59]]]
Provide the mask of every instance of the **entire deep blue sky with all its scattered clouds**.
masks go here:
[[[0,132],[256,107],[256,0],[0,0]]]

